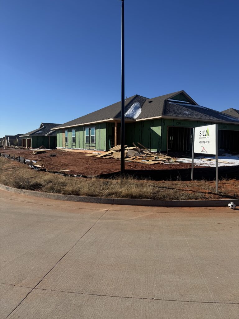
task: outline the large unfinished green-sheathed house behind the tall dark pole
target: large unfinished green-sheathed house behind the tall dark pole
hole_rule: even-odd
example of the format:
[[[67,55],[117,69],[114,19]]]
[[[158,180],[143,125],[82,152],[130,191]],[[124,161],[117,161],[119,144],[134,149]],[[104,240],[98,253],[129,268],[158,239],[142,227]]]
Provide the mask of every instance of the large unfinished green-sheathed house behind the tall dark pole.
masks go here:
[[[57,148],[108,150],[120,144],[121,102],[53,128]],[[192,129],[218,124],[219,148],[239,151],[239,119],[199,106],[185,91],[153,99],[125,100],[125,144],[141,143],[151,151],[190,152]]]

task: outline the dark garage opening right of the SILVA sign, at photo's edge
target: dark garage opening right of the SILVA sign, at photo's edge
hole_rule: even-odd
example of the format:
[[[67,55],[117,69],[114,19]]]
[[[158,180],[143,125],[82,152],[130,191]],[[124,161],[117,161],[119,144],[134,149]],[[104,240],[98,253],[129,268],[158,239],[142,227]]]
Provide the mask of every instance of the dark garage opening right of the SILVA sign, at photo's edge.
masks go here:
[[[239,131],[218,130],[218,149],[239,152]]]

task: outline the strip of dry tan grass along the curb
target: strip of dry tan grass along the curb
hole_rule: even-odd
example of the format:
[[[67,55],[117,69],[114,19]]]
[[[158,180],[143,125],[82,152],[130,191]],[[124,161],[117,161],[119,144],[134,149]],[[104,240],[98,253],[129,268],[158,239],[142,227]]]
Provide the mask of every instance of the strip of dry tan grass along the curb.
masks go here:
[[[212,199],[236,198],[239,182],[220,181],[219,193],[209,181],[150,181],[131,176],[114,179],[85,179],[37,172],[26,165],[0,158],[0,183],[20,189],[38,190],[66,195],[147,198],[147,199]]]

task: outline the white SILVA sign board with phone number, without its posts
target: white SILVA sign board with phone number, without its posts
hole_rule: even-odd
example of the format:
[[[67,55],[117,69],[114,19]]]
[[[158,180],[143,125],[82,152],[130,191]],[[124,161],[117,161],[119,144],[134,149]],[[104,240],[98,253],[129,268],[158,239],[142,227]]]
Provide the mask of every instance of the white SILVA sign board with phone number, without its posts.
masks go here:
[[[194,153],[216,154],[216,124],[195,127]]]

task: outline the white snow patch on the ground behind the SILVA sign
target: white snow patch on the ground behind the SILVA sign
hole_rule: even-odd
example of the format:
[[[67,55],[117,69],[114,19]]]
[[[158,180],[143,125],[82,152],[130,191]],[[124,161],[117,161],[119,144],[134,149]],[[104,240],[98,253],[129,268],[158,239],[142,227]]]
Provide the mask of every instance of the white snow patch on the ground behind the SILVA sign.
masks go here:
[[[206,159],[213,159],[213,160],[210,161]],[[192,164],[192,159],[190,158],[177,158],[176,161],[180,163]],[[215,156],[202,157],[202,159],[194,158],[194,165],[215,167]],[[231,154],[225,153],[222,156],[218,156],[218,167],[219,166],[237,166],[237,165],[239,165],[239,155],[231,155]]]

